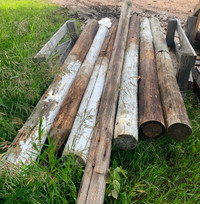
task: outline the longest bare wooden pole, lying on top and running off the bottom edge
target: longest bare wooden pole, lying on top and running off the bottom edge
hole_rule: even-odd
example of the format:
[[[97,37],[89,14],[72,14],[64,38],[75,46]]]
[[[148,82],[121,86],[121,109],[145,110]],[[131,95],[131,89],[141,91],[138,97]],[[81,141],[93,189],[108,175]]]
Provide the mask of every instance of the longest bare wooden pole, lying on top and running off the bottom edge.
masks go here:
[[[89,150],[89,157],[79,190],[77,204],[100,204],[104,201],[106,174],[110,163],[114,120],[131,7],[132,3],[128,0],[125,1],[122,7],[105,88],[97,117],[98,125],[94,129],[92,144]]]

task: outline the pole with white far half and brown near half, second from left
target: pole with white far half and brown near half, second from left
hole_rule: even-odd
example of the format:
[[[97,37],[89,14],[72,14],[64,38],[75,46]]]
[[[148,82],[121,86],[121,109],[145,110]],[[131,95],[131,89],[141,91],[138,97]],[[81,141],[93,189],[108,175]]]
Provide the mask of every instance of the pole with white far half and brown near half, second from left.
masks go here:
[[[51,142],[56,147],[55,153],[58,152],[59,148],[65,143],[70,134],[83,94],[87,88],[95,62],[99,56],[107,33],[108,28],[101,25],[86,56],[86,59],[81,66],[76,79],[72,83],[53,122],[49,135]]]

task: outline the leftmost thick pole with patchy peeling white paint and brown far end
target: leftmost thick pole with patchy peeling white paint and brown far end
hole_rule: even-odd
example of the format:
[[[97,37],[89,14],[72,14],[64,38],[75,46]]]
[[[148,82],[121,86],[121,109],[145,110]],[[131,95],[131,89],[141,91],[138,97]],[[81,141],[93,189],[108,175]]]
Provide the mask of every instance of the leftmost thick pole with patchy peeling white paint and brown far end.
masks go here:
[[[87,24],[61,67],[60,73],[55,77],[19,131],[11,147],[4,155],[3,161],[20,165],[21,163],[30,164],[32,160],[37,158],[38,151],[41,150],[46,140],[47,132],[50,130],[69,87],[85,59],[97,29],[97,21],[93,20]]]

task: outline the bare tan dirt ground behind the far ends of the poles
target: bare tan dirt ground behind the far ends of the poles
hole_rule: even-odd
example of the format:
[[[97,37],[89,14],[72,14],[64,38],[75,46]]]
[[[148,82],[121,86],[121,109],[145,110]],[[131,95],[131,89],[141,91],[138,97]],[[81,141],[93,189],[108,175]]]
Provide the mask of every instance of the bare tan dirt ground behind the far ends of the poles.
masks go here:
[[[124,0],[51,0],[62,7],[71,8],[78,11],[83,19],[87,15],[99,19],[103,15],[108,17],[118,17],[120,7]],[[165,17],[177,17],[186,20],[191,15],[195,5],[199,0],[134,0],[133,12],[142,16],[152,14],[163,15]],[[82,16],[81,16],[82,15]],[[105,16],[106,17],[106,16]],[[158,16],[159,17],[159,16]]]

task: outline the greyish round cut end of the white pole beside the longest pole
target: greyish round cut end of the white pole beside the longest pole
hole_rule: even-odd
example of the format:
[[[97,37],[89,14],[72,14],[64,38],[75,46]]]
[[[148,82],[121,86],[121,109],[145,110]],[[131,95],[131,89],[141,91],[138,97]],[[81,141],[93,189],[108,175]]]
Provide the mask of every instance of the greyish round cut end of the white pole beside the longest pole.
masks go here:
[[[138,140],[132,135],[118,135],[115,144],[119,149],[131,150],[137,146]]]

